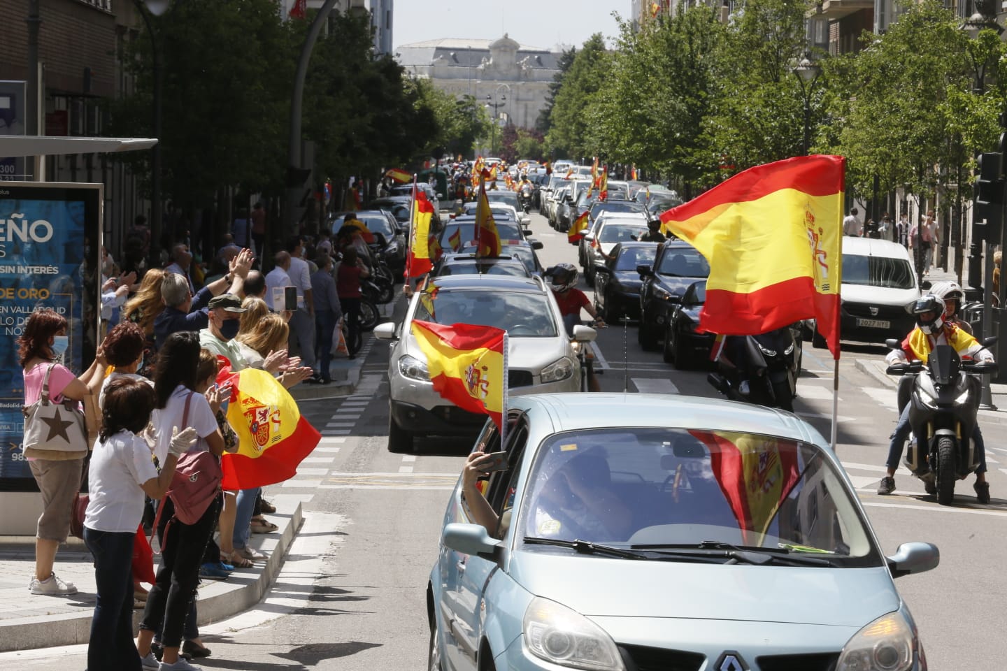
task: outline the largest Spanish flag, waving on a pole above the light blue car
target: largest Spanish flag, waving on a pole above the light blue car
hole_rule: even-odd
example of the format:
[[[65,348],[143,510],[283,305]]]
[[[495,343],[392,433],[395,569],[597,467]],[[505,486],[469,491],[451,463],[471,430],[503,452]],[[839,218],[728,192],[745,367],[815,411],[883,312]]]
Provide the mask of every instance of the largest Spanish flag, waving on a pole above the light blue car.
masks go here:
[[[815,318],[839,358],[845,167],[842,156],[756,166],[661,215],[710,263],[701,329],[754,335]]]

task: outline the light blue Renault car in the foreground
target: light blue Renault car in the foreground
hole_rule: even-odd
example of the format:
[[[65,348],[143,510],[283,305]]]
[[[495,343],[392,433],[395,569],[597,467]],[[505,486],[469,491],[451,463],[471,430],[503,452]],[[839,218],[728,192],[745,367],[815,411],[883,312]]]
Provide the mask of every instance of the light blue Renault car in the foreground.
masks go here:
[[[444,515],[430,669],[926,669],[892,577],[938,548],[885,557],[807,423],[688,396],[510,402],[503,447],[491,424],[476,442],[508,453],[480,486],[491,517],[460,480]]]

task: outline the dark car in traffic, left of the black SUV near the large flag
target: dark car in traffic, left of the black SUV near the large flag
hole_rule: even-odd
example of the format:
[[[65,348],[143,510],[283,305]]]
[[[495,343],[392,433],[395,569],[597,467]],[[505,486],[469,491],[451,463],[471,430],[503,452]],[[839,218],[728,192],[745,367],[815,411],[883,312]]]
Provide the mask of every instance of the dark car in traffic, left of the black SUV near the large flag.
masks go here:
[[[594,267],[594,309],[606,322],[639,317],[639,266],[654,265],[657,242],[618,242],[604,264]]]

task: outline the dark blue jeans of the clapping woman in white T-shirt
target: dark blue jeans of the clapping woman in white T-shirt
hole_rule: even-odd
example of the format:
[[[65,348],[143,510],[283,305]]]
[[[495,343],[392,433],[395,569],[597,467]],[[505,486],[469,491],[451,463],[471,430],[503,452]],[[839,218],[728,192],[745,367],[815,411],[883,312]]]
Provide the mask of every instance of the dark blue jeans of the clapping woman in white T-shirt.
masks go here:
[[[88,668],[140,671],[133,643],[133,537],[135,532],[84,527],[84,542],[95,557],[98,597],[88,641]]]

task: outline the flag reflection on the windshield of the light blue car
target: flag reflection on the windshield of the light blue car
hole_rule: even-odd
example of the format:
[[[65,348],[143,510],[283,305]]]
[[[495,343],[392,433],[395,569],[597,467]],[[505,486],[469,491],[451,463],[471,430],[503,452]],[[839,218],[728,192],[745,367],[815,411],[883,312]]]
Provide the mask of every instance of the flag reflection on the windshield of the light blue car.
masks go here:
[[[779,506],[801,480],[797,446],[750,434],[689,433],[710,451],[713,477],[738,521],[742,544],[761,545]]]

